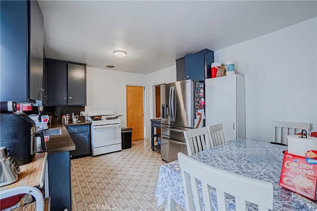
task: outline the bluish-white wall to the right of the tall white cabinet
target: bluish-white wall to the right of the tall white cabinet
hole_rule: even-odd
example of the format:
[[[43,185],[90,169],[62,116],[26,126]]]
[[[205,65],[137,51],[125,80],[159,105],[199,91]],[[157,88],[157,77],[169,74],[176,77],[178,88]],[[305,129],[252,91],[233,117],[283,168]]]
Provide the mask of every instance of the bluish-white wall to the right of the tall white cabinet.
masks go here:
[[[317,131],[317,18],[214,52],[245,76],[246,138],[269,142],[272,121]]]

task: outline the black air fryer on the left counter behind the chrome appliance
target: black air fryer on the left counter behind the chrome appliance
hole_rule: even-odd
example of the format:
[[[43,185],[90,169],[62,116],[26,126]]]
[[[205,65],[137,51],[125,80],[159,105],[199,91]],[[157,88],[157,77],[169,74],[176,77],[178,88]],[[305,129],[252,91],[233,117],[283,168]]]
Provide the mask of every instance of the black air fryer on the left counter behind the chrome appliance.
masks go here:
[[[36,151],[36,125],[24,113],[0,114],[0,147],[6,147],[18,165],[32,162]]]

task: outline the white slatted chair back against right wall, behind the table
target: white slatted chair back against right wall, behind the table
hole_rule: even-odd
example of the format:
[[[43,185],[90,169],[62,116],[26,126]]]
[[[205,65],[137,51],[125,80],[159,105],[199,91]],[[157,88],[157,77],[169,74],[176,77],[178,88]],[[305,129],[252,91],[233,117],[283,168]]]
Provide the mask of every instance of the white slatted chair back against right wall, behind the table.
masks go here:
[[[309,123],[289,123],[272,121],[273,142],[287,144],[287,135],[295,135],[303,129],[310,129]]]

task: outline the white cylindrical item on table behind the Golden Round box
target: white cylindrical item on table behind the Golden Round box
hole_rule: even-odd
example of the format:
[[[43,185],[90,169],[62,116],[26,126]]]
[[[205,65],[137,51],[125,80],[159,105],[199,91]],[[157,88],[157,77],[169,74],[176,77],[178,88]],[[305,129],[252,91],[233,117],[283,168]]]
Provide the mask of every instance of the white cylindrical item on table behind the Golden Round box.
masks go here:
[[[299,135],[288,135],[287,148],[289,154],[305,157],[307,151],[317,150],[317,138],[302,138]]]

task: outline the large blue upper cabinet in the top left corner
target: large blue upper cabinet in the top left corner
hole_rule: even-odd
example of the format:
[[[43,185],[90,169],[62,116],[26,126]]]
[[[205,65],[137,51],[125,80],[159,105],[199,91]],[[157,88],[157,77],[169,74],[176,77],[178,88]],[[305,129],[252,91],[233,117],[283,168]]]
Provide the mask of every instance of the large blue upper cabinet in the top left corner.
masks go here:
[[[42,100],[43,15],[37,1],[0,1],[0,101]]]

